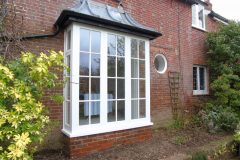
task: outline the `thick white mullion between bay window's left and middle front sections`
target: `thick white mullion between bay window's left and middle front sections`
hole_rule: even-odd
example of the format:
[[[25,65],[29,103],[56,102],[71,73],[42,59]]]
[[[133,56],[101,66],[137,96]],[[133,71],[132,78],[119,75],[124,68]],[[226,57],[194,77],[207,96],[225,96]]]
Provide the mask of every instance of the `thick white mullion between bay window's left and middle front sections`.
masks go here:
[[[106,124],[107,123],[107,109],[108,109],[108,103],[107,103],[107,32],[101,32],[101,63],[100,63],[100,123]]]

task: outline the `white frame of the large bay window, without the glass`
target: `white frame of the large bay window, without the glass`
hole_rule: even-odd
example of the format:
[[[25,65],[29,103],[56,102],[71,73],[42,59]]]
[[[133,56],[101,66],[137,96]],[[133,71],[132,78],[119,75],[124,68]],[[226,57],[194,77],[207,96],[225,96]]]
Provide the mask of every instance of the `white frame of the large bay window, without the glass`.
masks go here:
[[[100,123],[90,125],[79,125],[79,56],[80,56],[80,28],[101,32],[101,63],[100,63]],[[71,50],[66,50],[67,31],[71,30]],[[125,120],[107,122],[107,38],[108,34],[125,37]],[[80,23],[72,23],[64,32],[64,51],[71,55],[71,124],[66,125],[63,105],[63,129],[62,132],[69,137],[80,137],[86,135],[100,134],[119,130],[126,130],[144,126],[151,126],[150,117],[150,43],[149,39],[131,34],[121,33],[95,26]],[[146,94],[146,117],[131,119],[131,39],[145,41],[145,94]],[[129,90],[130,89],[130,90]],[[64,90],[66,95],[66,90]],[[64,103],[65,104],[65,103]],[[104,116],[105,115],[105,116]]]

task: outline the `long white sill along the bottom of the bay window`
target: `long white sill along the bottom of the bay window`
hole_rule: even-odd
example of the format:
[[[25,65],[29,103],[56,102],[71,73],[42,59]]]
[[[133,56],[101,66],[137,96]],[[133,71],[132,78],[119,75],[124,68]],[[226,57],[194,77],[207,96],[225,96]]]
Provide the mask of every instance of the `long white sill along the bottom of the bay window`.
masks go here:
[[[94,134],[101,134],[101,133],[108,133],[108,132],[115,132],[115,131],[121,131],[121,130],[127,130],[127,129],[134,129],[134,128],[140,128],[140,127],[147,127],[152,126],[153,123],[149,122],[147,120],[138,119],[138,120],[132,120],[131,122],[113,122],[113,123],[107,123],[105,125],[88,125],[88,126],[82,126],[78,127],[73,132],[68,131],[67,129],[62,129],[62,132],[68,136],[68,137],[81,137],[81,136],[88,136],[88,135],[94,135]]]

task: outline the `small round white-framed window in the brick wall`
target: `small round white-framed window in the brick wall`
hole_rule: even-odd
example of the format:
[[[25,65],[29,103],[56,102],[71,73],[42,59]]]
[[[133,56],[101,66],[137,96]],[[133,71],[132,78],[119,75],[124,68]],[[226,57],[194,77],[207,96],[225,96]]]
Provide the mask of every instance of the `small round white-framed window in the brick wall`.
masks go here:
[[[167,59],[163,54],[157,54],[154,60],[154,65],[158,73],[163,74],[167,70]]]

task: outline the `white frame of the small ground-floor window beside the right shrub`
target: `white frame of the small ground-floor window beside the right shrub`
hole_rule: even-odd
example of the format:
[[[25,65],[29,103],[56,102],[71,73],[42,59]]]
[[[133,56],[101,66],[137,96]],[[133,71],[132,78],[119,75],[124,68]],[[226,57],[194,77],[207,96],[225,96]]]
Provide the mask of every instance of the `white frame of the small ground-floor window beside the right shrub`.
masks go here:
[[[193,90],[193,95],[208,95],[209,94],[209,74],[208,74],[208,68],[206,66],[202,65],[193,65],[193,67],[197,68],[197,90]],[[205,82],[205,89],[200,90],[200,68],[204,68],[204,82]]]

